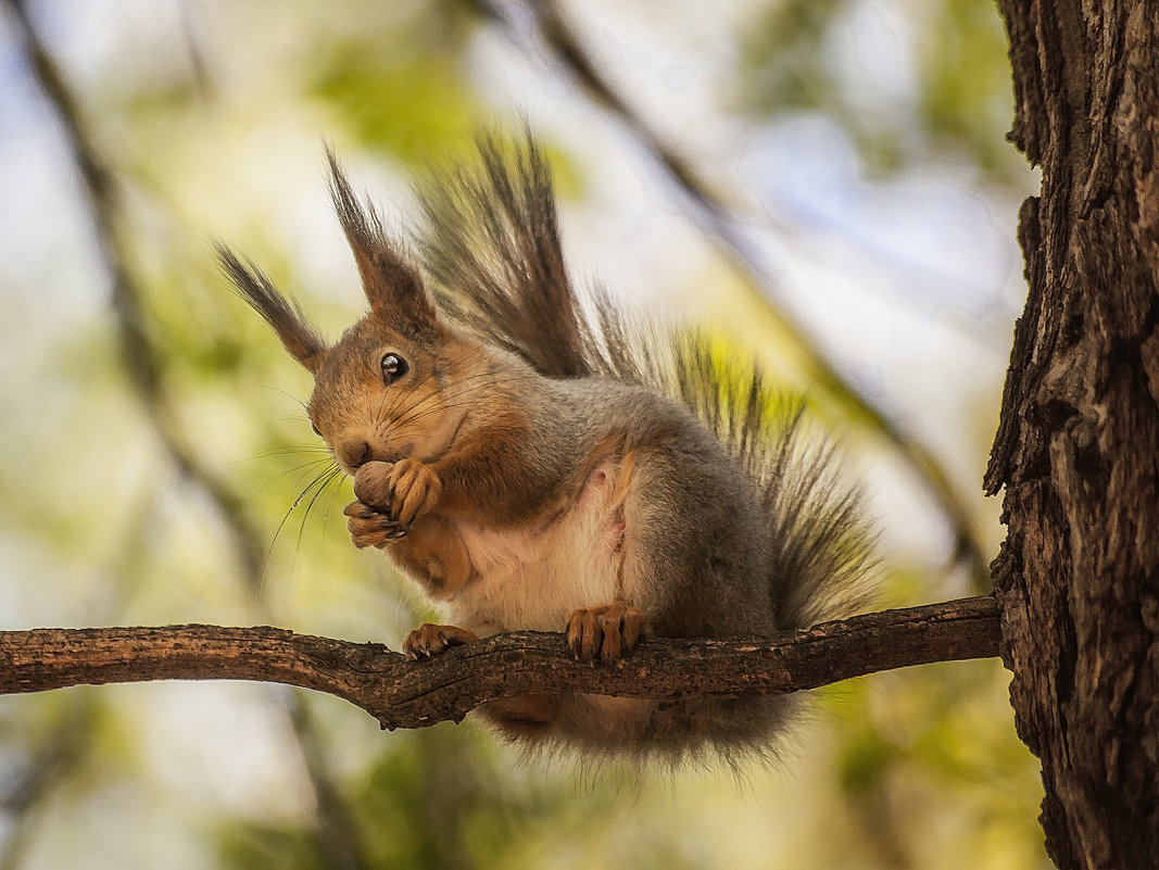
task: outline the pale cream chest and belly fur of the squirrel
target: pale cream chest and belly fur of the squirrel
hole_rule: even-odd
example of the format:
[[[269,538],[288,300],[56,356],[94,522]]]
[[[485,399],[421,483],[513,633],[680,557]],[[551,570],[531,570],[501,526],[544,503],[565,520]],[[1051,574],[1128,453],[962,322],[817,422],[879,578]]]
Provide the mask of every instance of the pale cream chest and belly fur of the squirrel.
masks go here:
[[[472,580],[451,599],[452,620],[483,636],[560,631],[577,607],[622,597],[624,482],[619,463],[602,462],[576,498],[530,527],[460,525]]]

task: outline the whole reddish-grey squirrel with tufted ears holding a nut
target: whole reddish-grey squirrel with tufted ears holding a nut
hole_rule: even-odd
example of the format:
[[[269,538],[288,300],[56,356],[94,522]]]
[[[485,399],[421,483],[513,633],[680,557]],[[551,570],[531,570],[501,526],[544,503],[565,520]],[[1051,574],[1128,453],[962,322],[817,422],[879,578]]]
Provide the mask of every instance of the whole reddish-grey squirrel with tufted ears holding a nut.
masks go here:
[[[218,244],[236,291],[314,376],[309,419],[353,477],[355,546],[385,550],[446,606],[451,623],[410,631],[407,657],[538,629],[610,661],[648,633],[770,636],[855,612],[872,534],[832,451],[806,444],[800,405],[704,336],[582,298],[541,148],[530,133],[476,145],[475,163],[417,184],[407,243],[327,148],[370,304],[333,345]],[[478,712],[529,746],[680,759],[775,748],[794,708],[560,692]]]

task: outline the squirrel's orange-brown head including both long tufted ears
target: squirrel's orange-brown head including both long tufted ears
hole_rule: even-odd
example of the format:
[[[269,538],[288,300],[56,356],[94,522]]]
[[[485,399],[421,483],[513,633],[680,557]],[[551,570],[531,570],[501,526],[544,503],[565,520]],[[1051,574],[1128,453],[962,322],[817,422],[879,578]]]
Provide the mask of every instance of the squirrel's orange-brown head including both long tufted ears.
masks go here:
[[[253,263],[224,246],[218,257],[241,297],[314,375],[308,412],[348,474],[370,460],[438,458],[467,404],[451,393],[478,370],[482,348],[447,329],[418,269],[392,244],[372,207],[363,207],[334,158],[330,193],[355,255],[370,310],[334,345]]]

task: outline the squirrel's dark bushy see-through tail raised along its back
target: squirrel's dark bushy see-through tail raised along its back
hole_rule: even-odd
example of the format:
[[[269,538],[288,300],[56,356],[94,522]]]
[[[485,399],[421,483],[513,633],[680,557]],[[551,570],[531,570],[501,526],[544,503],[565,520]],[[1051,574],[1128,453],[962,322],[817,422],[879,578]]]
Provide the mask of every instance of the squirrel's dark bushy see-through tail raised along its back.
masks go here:
[[[465,329],[552,378],[600,375],[683,401],[758,487],[773,543],[778,628],[804,628],[869,604],[873,535],[832,446],[809,438],[800,401],[779,399],[756,365],[700,334],[625,316],[602,291],[578,295],[559,239],[551,173],[530,134],[505,152],[418,187],[418,247],[439,307]]]

